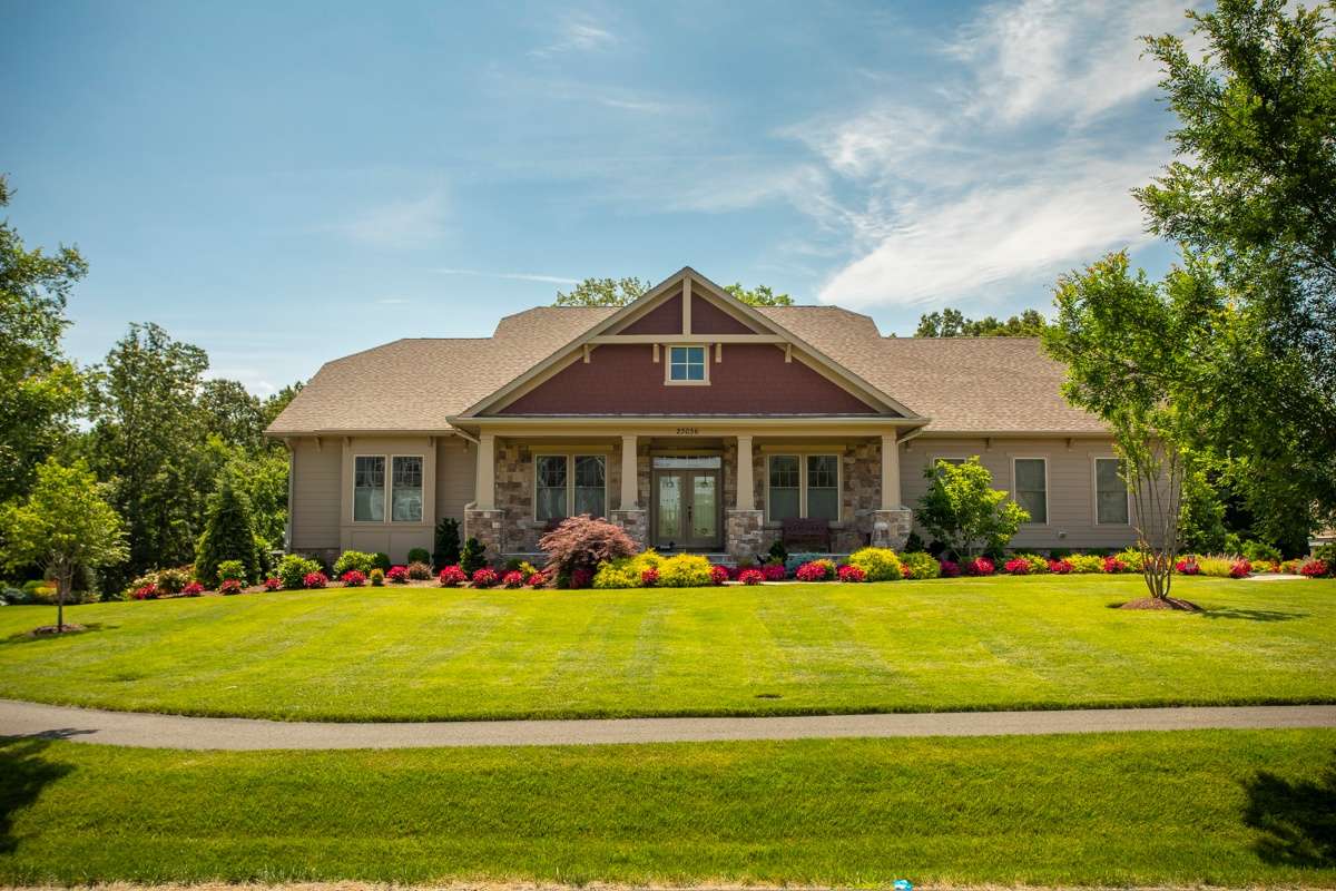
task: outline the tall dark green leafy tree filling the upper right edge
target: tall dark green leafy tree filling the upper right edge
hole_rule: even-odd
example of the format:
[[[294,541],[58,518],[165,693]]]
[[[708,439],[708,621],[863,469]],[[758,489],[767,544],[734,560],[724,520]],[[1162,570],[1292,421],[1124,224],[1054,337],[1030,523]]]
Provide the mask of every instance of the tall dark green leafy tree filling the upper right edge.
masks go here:
[[[1146,39],[1178,127],[1176,160],[1134,194],[1217,282],[1197,319],[1214,334],[1196,338],[1198,446],[1246,481],[1259,533],[1303,540],[1336,521],[1336,33],[1325,5],[1188,15],[1200,51]]]

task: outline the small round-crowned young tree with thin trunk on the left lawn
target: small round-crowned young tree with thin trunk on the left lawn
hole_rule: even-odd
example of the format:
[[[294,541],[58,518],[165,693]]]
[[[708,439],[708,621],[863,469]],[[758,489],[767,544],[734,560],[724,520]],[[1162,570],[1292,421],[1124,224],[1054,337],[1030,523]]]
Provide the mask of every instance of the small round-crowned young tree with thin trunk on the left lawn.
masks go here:
[[[48,458],[37,468],[27,500],[0,512],[5,562],[37,564],[56,582],[56,631],[65,631],[65,598],[81,568],[126,558],[120,517],[107,504],[106,486],[81,461],[64,466]]]

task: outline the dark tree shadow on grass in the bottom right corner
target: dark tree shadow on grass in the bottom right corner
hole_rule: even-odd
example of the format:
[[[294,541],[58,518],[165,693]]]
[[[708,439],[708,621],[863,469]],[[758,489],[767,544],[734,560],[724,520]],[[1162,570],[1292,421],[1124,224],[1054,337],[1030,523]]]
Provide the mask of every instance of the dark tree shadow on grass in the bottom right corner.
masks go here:
[[[1244,781],[1244,823],[1261,838],[1253,848],[1267,863],[1336,867],[1336,755],[1317,780],[1289,781],[1260,771]]]

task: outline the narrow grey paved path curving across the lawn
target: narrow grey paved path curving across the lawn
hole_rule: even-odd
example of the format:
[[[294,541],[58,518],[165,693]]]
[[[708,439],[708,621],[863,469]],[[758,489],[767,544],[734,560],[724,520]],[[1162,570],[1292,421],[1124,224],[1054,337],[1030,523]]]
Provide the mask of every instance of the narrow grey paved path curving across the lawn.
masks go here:
[[[1336,727],[1336,705],[338,724],[102,712],[0,700],[0,736],[51,736],[106,745],[188,749],[597,745],[1283,727]]]

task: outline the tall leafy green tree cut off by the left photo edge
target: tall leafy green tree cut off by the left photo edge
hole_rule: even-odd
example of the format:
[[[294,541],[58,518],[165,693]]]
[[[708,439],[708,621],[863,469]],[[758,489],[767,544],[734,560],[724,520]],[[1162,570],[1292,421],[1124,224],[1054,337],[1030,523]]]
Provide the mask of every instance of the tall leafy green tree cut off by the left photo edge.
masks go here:
[[[9,183],[0,175],[0,207]],[[88,273],[77,248],[24,247],[0,220],[0,502],[28,490],[33,472],[69,433],[83,381],[60,350],[65,302]]]

